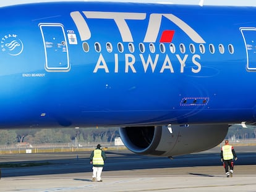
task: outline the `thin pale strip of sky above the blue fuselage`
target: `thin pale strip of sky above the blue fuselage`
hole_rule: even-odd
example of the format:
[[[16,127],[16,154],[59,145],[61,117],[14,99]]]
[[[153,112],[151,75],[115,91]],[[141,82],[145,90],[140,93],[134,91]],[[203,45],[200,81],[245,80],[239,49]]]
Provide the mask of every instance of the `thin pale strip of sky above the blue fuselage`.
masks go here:
[[[92,1],[92,0],[0,0],[0,6],[22,4],[25,2],[53,2],[53,1]],[[198,4],[200,0],[95,0],[119,2],[164,2],[174,4]],[[203,5],[218,6],[256,6],[255,0],[204,0]]]

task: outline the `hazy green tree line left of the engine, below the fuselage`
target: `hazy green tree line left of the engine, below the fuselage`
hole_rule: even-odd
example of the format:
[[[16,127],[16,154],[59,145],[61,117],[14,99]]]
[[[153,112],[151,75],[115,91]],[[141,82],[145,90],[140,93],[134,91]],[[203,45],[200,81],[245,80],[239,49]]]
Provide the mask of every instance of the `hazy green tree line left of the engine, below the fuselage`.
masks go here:
[[[43,128],[0,130],[0,144],[112,142],[119,136],[118,128]]]

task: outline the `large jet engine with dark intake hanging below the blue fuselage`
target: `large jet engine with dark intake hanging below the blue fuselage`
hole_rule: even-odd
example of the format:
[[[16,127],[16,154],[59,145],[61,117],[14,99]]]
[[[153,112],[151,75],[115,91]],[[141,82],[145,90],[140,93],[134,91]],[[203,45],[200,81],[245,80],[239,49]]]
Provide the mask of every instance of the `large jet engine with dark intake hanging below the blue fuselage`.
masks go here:
[[[228,125],[166,125],[119,128],[121,139],[132,152],[173,157],[205,151],[220,144]]]

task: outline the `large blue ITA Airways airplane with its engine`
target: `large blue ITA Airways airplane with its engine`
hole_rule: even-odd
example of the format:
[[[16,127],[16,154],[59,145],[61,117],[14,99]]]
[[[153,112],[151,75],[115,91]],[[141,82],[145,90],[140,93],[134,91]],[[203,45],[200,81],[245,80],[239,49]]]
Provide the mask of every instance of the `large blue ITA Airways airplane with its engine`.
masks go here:
[[[120,127],[130,151],[173,157],[255,123],[255,7],[39,2],[0,12],[0,128]]]

